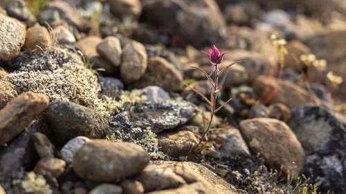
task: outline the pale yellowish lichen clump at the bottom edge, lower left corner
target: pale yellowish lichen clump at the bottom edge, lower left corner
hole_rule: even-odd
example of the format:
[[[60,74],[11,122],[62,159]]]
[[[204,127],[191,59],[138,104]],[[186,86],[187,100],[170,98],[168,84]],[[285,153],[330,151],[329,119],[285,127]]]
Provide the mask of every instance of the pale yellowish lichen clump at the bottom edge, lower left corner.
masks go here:
[[[25,193],[32,194],[51,194],[53,191],[47,184],[46,180],[42,175],[36,175],[33,172],[26,174],[25,179],[21,182],[21,188],[24,189]]]

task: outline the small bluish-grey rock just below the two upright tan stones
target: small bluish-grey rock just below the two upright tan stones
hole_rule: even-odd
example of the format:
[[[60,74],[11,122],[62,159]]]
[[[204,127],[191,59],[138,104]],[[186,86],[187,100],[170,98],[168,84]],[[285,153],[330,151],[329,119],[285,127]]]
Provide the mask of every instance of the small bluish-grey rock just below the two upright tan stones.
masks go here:
[[[124,84],[119,79],[113,77],[99,77],[101,92],[104,95],[114,96],[124,90]]]

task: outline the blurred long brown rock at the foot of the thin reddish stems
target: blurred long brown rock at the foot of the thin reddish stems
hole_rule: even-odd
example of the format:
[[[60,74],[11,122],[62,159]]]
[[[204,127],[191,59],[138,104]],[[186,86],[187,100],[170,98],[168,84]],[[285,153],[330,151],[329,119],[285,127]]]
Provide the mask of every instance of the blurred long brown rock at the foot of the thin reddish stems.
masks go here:
[[[268,93],[265,95],[264,90],[268,88]],[[271,103],[282,103],[289,108],[295,108],[302,104],[314,103],[314,99],[306,90],[300,88],[298,85],[291,83],[291,81],[272,81],[267,77],[258,77],[253,84],[255,93],[263,96]]]

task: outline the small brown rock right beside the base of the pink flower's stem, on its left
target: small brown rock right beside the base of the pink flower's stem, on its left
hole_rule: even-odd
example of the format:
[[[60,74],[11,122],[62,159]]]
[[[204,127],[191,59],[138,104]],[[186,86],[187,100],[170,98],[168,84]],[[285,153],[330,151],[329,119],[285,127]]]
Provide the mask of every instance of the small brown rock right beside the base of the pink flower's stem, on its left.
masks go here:
[[[163,153],[171,157],[186,156],[192,153],[200,141],[200,137],[188,130],[158,135],[158,146]]]

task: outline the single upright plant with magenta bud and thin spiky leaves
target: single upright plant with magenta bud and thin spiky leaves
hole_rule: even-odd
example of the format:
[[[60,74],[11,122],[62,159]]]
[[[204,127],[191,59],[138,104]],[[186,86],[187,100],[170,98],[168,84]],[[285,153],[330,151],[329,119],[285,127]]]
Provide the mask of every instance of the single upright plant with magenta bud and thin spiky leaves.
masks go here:
[[[208,57],[210,59],[210,64],[212,64],[213,69],[212,69],[211,75],[208,75],[208,73],[205,70],[203,70],[199,67],[190,66],[190,68],[193,68],[195,70],[199,70],[200,72],[203,73],[203,75],[206,76],[206,78],[208,79],[208,81],[212,85],[212,91],[210,93],[210,98],[208,99],[208,97],[203,95],[203,93],[201,93],[201,91],[187,85],[191,90],[193,90],[195,93],[197,93],[199,96],[201,96],[202,99],[205,100],[210,106],[210,120],[208,122],[207,127],[204,129],[202,138],[201,138],[199,144],[197,145],[197,148],[199,147],[201,142],[203,142],[203,138],[208,133],[208,130],[210,130],[210,126],[212,125],[212,120],[215,117],[215,113],[217,113],[219,110],[221,110],[221,108],[224,107],[224,105],[226,105],[230,100],[232,100],[232,97],[230,97],[223,105],[221,105],[217,108],[217,97],[218,97],[218,94],[220,93],[220,91],[222,89],[222,86],[224,85],[224,81],[225,81],[226,76],[227,76],[228,68],[230,68],[230,66],[233,66],[233,64],[237,63],[237,62],[235,62],[235,63],[229,64],[228,66],[226,66],[223,69],[219,69],[219,64],[221,64],[222,60],[224,59],[226,52],[219,52],[219,49],[215,45],[213,45],[210,48],[209,52],[204,52],[204,53],[206,55],[208,55]]]

